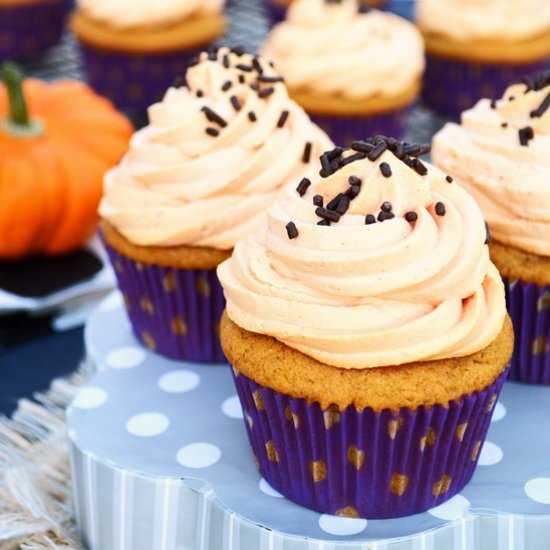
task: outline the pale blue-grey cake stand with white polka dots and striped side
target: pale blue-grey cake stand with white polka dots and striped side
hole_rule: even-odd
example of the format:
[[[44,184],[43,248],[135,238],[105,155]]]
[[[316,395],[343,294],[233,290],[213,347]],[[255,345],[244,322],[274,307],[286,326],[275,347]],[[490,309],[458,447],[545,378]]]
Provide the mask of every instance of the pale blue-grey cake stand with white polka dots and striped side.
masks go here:
[[[319,514],[254,466],[229,366],[164,359],[118,293],[91,316],[97,368],[69,408],[76,516],[90,550],[543,550],[550,541],[550,388],[507,383],[473,480],[392,520]]]

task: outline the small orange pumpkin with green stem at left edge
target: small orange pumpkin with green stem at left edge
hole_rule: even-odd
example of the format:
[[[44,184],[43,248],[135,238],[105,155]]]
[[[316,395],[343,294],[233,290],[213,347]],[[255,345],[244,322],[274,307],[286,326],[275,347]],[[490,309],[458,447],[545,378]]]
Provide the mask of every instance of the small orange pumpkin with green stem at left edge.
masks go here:
[[[0,258],[75,250],[95,231],[103,175],[132,127],[80,82],[23,82],[9,62],[2,76]]]

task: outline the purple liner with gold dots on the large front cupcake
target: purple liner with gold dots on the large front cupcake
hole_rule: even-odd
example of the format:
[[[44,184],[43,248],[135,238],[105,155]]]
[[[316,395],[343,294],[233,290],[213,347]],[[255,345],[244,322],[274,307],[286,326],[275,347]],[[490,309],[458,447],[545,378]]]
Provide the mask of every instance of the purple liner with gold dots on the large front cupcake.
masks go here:
[[[506,371],[483,391],[416,410],[321,410],[234,370],[259,470],[318,512],[384,519],[423,512],[474,473]]]

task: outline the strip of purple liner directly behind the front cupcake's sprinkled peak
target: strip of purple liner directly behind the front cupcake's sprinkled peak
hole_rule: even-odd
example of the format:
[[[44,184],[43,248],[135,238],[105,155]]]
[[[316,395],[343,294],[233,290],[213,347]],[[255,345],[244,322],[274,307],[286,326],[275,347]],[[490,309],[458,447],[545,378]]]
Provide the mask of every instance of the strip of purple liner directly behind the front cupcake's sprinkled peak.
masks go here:
[[[342,117],[309,113],[336,144],[383,135],[400,139],[405,134],[410,108],[372,116]]]

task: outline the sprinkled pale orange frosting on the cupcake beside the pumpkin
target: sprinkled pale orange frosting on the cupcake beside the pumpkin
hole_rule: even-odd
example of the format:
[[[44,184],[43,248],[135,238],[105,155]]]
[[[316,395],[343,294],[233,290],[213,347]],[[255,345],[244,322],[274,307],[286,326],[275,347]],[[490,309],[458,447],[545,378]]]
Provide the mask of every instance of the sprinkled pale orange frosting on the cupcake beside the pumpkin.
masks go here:
[[[332,145],[273,68],[239,49],[201,54],[149,118],[100,205],[136,245],[230,250]]]

